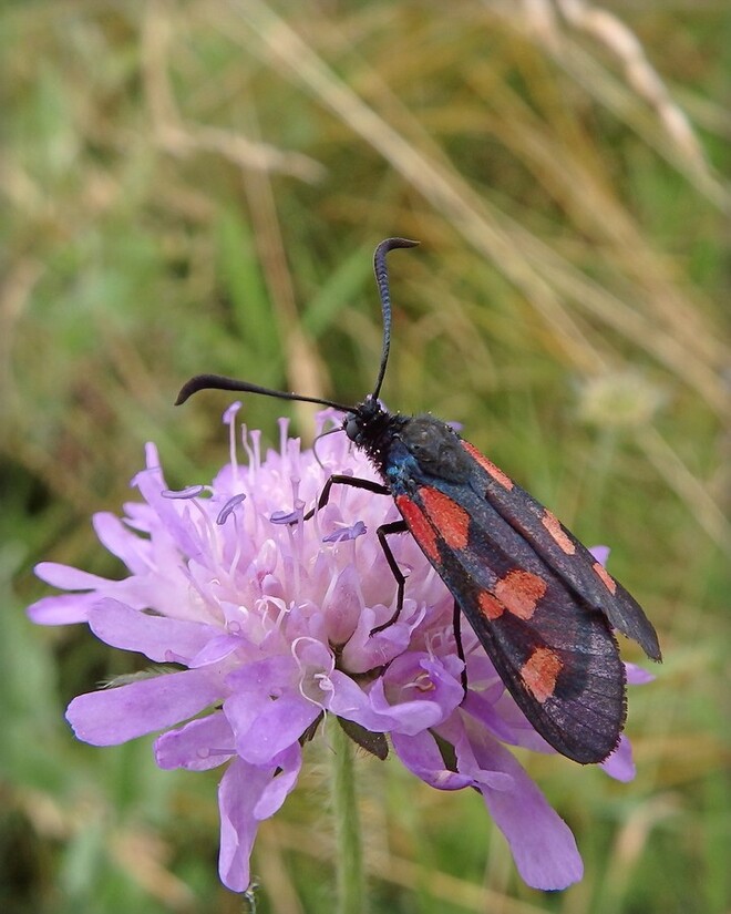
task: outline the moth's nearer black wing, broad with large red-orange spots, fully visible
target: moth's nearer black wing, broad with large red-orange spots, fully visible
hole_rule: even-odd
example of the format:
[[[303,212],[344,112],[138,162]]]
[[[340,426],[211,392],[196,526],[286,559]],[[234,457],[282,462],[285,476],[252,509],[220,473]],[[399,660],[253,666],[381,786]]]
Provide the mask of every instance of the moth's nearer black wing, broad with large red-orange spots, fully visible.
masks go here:
[[[558,752],[603,761],[626,716],[625,667],[605,615],[470,486],[411,482],[397,505],[518,707]]]

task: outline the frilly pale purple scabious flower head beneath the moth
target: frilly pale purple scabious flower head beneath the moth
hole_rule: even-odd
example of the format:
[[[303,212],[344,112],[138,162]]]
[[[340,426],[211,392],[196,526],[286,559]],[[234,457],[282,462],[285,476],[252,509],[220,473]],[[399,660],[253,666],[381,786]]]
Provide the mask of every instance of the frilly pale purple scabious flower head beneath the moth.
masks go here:
[[[349,732],[388,735],[432,787],[476,788],[529,885],[563,889],[580,879],[572,832],[505,747],[553,750],[470,630],[464,695],[452,597],[409,535],[391,540],[408,574],[403,608],[379,630],[393,616],[397,587],[375,530],[398,520],[393,503],[340,485],[303,521],[332,473],[374,479],[366,458],[344,434],[321,438],[317,456],[302,451],[286,420],[279,450],[262,454],[259,432],[244,428],[238,443],[238,407],[224,414],[230,460],[209,485],[169,491],[148,444],[134,480],[142,501],[127,504],[123,520],[94,516],[127,577],[37,568],[66,593],[33,604],[34,622],[86,622],[113,647],[175,665],[75,698],[66,717],[79,739],[112,746],[163,731],[161,768],[225,766],[219,872],[235,891],[249,884],[258,823],[295,788],[302,744],[327,713],[349,721]],[[320,430],[333,423],[330,411],[320,414]],[[641,674],[630,670],[631,679]],[[437,738],[452,747],[449,763]],[[604,767],[632,777],[626,740]]]

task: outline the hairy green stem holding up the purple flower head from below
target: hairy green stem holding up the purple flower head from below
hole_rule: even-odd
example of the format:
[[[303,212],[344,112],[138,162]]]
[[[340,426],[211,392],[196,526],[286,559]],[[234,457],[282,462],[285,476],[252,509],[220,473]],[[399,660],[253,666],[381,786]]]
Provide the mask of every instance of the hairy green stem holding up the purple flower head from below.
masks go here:
[[[364,914],[366,877],[363,845],[356,800],[353,743],[334,716],[330,721],[332,744],[332,814],[336,826],[338,914]]]

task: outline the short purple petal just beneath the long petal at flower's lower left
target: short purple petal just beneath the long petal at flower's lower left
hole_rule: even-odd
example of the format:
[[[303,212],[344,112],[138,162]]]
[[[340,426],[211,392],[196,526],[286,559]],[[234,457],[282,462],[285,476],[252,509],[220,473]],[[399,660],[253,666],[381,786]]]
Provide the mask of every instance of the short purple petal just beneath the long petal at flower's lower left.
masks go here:
[[[236,754],[234,733],[222,711],[196,718],[155,740],[155,761],[163,769],[207,771]]]

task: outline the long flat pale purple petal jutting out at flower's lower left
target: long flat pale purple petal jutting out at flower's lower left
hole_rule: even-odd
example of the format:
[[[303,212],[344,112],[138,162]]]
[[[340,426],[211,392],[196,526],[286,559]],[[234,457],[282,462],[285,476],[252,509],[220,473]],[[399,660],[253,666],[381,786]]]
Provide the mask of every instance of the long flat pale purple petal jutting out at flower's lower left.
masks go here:
[[[163,674],[80,695],[69,705],[66,720],[78,739],[92,746],[116,746],[179,723],[220,694],[220,676],[212,670]]]

